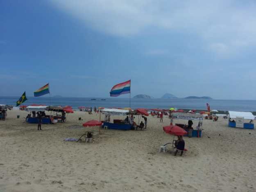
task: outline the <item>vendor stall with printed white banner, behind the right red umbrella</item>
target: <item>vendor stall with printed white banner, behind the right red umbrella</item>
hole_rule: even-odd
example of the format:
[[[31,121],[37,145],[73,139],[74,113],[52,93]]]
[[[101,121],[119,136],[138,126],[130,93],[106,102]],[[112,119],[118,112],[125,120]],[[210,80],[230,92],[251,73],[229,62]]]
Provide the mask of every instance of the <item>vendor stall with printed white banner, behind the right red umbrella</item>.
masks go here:
[[[203,124],[203,115],[198,114],[198,113],[172,113],[171,116],[171,123],[175,119],[181,119],[181,120],[191,120],[191,121],[197,121],[198,123],[195,124],[194,127],[190,127],[186,124],[175,124],[185,131],[188,132],[188,134],[184,136],[190,136],[190,137],[202,137],[202,124]]]

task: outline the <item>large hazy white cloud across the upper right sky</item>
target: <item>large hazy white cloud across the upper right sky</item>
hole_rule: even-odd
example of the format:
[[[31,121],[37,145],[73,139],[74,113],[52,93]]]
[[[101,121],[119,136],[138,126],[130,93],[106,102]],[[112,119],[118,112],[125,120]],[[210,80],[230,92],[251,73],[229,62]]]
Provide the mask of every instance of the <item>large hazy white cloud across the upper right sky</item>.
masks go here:
[[[217,54],[256,45],[256,2],[236,0],[52,0],[87,26],[116,36],[154,27],[193,33]],[[232,49],[229,49],[232,47]]]

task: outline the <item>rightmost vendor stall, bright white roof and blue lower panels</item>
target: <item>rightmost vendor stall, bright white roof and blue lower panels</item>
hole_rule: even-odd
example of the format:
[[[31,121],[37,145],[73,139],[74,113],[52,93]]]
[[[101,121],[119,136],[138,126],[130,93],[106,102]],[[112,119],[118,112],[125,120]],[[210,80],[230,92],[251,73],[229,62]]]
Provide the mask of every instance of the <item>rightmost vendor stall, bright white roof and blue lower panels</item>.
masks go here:
[[[251,112],[229,111],[228,113],[230,127],[254,129],[254,118]]]

